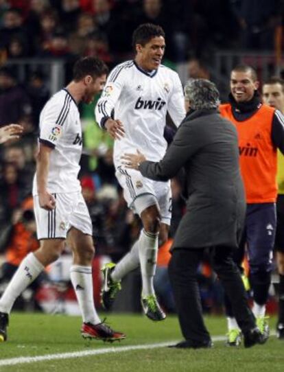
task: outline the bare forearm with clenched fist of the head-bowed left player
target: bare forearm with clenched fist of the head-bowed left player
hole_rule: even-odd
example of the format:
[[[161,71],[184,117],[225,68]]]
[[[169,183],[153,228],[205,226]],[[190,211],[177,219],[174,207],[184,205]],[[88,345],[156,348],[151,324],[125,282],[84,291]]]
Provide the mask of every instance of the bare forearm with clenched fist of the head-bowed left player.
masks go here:
[[[56,206],[54,196],[47,191],[47,176],[49,171],[49,156],[52,148],[40,143],[36,156],[36,183],[38,187],[38,199],[40,207],[52,211]]]

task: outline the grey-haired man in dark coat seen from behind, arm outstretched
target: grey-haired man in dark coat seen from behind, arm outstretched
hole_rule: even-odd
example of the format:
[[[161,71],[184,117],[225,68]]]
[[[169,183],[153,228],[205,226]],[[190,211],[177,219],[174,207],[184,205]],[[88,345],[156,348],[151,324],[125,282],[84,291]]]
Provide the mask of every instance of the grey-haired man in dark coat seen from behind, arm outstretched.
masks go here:
[[[193,80],[185,87],[191,111],[167,149],[154,163],[143,154],[125,154],[126,167],[147,178],[167,181],[184,168],[187,181],[187,212],[172,247],[169,275],[185,341],[175,347],[210,347],[211,338],[203,318],[196,271],[205,248],[224,289],[233,301],[234,314],[246,347],[264,342],[250,311],[237,266],[231,255],[237,248],[244,224],[246,202],[239,172],[237,132],[222,118],[217,107],[219,93],[208,80]]]

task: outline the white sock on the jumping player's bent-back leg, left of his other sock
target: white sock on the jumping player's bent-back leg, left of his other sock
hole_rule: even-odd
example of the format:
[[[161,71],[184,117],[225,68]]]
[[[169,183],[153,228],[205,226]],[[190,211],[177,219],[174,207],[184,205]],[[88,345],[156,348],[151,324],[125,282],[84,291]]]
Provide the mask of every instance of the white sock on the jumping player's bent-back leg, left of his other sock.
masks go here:
[[[114,281],[120,281],[128,272],[139,267],[139,240],[137,240],[131,251],[127,253],[115,266],[111,273],[111,278]]]

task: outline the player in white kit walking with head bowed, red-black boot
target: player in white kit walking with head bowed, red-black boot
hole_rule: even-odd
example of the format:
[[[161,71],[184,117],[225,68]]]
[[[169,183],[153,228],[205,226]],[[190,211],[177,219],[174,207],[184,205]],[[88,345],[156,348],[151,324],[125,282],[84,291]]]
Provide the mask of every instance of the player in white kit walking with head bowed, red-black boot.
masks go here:
[[[73,252],[71,282],[83,324],[84,338],[125,338],[103,323],[93,301],[92,261],[95,252],[91,218],[82,197],[78,172],[82,154],[79,102],[90,103],[102,91],[108,68],[93,57],[75,63],[73,80],[49,99],[40,114],[33,195],[40,248],[21,262],[0,299],[0,336],[7,339],[8,314],[16,298],[64,250],[68,237]]]

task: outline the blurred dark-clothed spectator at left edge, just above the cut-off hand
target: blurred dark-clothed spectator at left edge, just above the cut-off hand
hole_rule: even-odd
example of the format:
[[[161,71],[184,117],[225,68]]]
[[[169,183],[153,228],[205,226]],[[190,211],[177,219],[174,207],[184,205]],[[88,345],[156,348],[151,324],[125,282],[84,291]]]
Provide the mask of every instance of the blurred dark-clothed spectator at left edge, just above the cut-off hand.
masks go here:
[[[9,110],[7,108],[10,108]],[[16,123],[24,114],[30,114],[32,106],[27,93],[19,86],[8,67],[0,69],[0,123]]]

